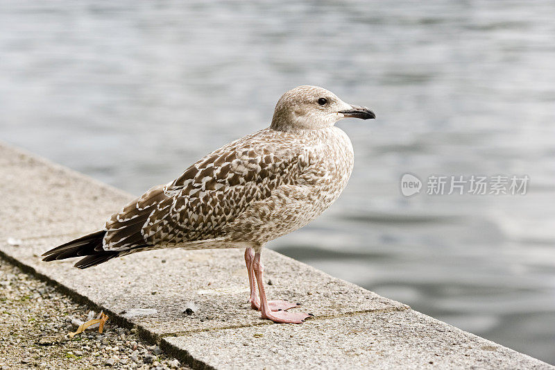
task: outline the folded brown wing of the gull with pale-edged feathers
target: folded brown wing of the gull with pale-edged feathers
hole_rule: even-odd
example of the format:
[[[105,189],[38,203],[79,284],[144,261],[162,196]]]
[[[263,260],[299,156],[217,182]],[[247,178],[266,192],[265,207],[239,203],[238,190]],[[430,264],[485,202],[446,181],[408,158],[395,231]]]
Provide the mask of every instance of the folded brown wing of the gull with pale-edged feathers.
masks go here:
[[[106,222],[102,248],[125,251],[225,236],[225,225],[276,187],[295,184],[308,165],[302,153],[267,139],[262,131],[232,142],[172,183],[148,190]]]

